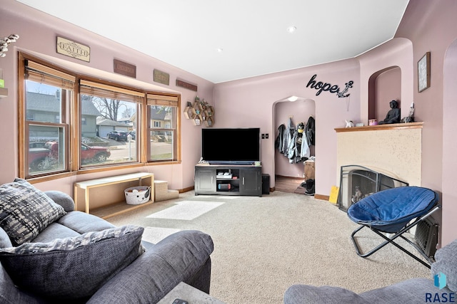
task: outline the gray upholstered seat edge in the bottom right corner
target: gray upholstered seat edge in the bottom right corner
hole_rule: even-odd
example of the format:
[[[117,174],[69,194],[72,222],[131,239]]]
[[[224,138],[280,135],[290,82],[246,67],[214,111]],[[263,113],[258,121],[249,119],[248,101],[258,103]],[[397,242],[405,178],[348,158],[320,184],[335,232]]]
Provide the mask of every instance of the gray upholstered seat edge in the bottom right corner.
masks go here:
[[[412,278],[360,294],[333,286],[292,285],[284,293],[284,304],[457,303],[457,240],[438,249],[435,259],[431,279]]]

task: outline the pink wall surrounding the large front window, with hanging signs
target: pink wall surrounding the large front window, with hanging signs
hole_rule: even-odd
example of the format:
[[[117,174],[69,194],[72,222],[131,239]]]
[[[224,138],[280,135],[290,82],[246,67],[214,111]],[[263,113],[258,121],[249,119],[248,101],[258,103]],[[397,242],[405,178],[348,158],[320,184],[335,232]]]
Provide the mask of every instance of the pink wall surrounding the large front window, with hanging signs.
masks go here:
[[[8,130],[9,134],[17,134],[17,51],[34,53],[34,55],[48,61],[55,61],[57,65],[73,65],[74,69],[81,70],[88,75],[96,75],[108,80],[121,83],[129,83],[138,88],[146,88],[158,91],[171,91],[181,94],[181,106],[184,109],[186,101],[194,101],[195,95],[205,98],[212,103],[212,91],[214,84],[207,80],[196,77],[190,73],[175,68],[145,56],[143,53],[121,46],[113,41],[96,36],[94,33],[84,31],[70,23],[43,14],[40,11],[19,4],[14,0],[2,1],[0,7],[1,35],[11,33],[19,34],[16,43],[11,44],[6,57],[0,58],[0,68],[3,69],[5,85],[9,89],[9,96],[0,99],[0,112],[2,113],[1,130]],[[91,48],[91,61],[86,63],[74,58],[62,56],[56,53],[56,36],[63,36],[73,41],[78,41]],[[113,73],[114,58],[136,65],[136,79],[127,78]],[[170,85],[154,83],[154,69],[162,70],[170,74]],[[174,85],[175,79],[181,78],[189,83],[198,85],[199,91],[194,92]],[[216,121],[217,117],[216,108]],[[73,193],[73,183],[79,180],[103,177],[113,174],[125,174],[129,172],[152,172],[156,179],[169,181],[171,189],[183,189],[194,185],[194,165],[200,158],[201,127],[194,126],[191,120],[184,118],[181,112],[182,123],[182,162],[174,165],[157,165],[149,167],[137,167],[134,169],[119,169],[110,172],[96,174],[81,174],[68,177],[56,182],[43,182],[36,184],[40,189],[57,189],[68,194]],[[2,147],[0,159],[0,183],[11,182],[18,175],[18,137],[11,138],[11,145]]]

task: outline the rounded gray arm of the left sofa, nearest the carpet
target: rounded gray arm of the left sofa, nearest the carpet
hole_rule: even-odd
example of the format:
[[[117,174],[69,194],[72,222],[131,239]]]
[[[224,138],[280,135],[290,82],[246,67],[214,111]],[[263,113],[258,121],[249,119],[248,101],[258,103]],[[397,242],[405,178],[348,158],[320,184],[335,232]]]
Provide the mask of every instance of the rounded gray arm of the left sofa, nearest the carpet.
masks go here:
[[[207,287],[211,271],[210,254],[214,250],[211,236],[201,231],[185,230],[167,236],[107,282],[88,304],[157,303],[179,282]],[[199,273],[202,269],[206,274]],[[194,285],[206,281],[207,285]],[[128,282],[128,283],[126,283]],[[205,291],[204,290],[204,291]]]

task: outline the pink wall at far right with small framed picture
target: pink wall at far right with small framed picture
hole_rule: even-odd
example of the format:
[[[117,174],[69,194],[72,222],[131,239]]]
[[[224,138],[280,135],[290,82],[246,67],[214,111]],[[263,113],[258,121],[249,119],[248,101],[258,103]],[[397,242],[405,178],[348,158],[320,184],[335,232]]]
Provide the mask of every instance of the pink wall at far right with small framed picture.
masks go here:
[[[422,133],[422,185],[441,192],[443,222],[441,246],[457,239],[455,224],[457,205],[456,180],[456,127],[455,86],[457,38],[457,2],[453,0],[411,0],[403,16],[396,37],[408,38],[413,44],[413,100],[416,120],[424,122]],[[450,46],[452,48],[450,48]],[[431,87],[418,93],[417,62],[431,52]],[[446,61],[445,61],[446,56]],[[444,70],[448,73],[444,73]],[[403,72],[403,69],[402,69]],[[446,92],[446,99],[443,98]],[[452,101],[451,101],[452,100]]]

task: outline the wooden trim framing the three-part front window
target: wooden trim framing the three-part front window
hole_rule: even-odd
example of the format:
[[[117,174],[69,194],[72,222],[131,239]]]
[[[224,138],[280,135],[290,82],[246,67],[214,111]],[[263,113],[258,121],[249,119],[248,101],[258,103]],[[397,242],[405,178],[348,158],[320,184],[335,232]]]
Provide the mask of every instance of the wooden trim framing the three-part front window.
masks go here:
[[[79,75],[72,71],[66,70],[66,68],[61,68],[55,63],[49,61],[43,61],[40,58],[36,58],[30,54],[19,52],[18,56],[18,125],[19,125],[19,177],[26,178],[26,172],[28,164],[26,164],[26,155],[28,154],[28,149],[25,147],[25,143],[29,142],[29,139],[26,138],[25,130],[28,127],[26,124],[26,100],[25,100],[25,80],[33,80],[36,82],[54,83],[54,85],[71,90],[71,102],[68,103],[68,108],[62,109],[62,115],[69,115],[66,117],[62,116],[62,119],[65,121],[65,138],[69,143],[69,147],[66,147],[67,154],[67,165],[68,172],[56,172],[51,174],[44,174],[43,176],[34,175],[29,177],[30,182],[39,182],[39,181],[48,181],[53,179],[59,179],[61,177],[69,177],[74,174],[86,174],[91,172],[105,172],[121,168],[133,168],[133,167],[142,167],[144,165],[163,165],[163,164],[176,164],[181,163],[181,95],[174,93],[158,93],[152,91],[141,90],[141,88],[132,88],[128,85],[122,85],[121,83],[116,83],[116,86],[112,85],[109,80],[99,80],[96,78],[91,78],[87,75]],[[84,78],[84,79],[82,79]],[[78,85],[80,84],[80,85]],[[139,112],[137,112],[137,136],[141,137],[141,142],[139,142],[140,157],[138,163],[126,163],[119,165],[110,165],[106,167],[88,167],[80,168],[79,167],[79,145],[81,142],[81,122],[79,122],[81,110],[79,108],[79,94],[80,86],[93,86],[94,88],[112,90],[116,93],[134,95],[139,98],[136,99],[139,103]],[[138,101],[139,100],[139,101]],[[130,100],[126,100],[130,101]],[[164,105],[164,106],[176,106],[176,127],[174,128],[175,132],[175,159],[176,160],[166,160],[161,161],[149,161],[149,157],[146,153],[147,149],[147,140],[149,130],[149,120],[148,111],[145,110],[147,105]],[[36,121],[31,121],[36,124]],[[59,124],[57,124],[59,125]],[[77,159],[76,159],[77,158]]]

